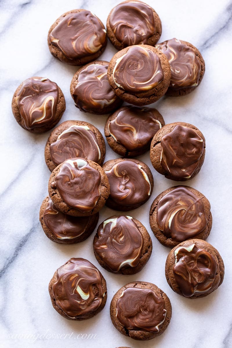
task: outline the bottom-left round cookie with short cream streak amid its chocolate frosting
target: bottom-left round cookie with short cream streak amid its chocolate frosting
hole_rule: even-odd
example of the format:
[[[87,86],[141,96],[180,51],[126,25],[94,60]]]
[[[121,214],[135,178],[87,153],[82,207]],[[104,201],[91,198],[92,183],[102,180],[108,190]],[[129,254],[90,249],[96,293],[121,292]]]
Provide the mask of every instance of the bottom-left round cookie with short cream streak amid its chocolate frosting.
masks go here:
[[[48,290],[55,310],[70,320],[92,318],[104,308],[107,299],[103,275],[81,258],[72,258],[59,267]]]

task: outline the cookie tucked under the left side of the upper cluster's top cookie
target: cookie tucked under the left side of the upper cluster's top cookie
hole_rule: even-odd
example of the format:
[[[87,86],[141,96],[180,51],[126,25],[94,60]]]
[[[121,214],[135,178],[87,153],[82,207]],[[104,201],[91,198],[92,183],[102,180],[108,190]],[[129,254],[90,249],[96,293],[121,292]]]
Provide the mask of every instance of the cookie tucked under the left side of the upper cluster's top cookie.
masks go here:
[[[70,93],[81,111],[97,115],[119,108],[122,100],[114,93],[107,79],[109,62],[95,61],[79,69],[73,76]]]

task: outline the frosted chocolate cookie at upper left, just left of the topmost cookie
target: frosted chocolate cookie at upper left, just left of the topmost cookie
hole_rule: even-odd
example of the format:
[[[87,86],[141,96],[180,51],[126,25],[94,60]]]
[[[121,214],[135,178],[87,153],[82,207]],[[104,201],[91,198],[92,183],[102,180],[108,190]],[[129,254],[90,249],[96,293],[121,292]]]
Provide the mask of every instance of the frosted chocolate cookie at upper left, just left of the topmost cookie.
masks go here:
[[[93,13],[83,9],[64,13],[48,32],[51,54],[66,64],[92,62],[104,52],[106,44],[104,25]]]

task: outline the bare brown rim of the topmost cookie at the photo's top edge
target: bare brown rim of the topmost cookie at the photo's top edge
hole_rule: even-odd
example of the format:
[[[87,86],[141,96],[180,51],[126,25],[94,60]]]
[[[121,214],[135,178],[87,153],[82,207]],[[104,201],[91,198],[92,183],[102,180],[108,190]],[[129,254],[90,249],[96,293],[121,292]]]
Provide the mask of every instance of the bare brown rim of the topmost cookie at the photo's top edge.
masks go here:
[[[130,0],[128,1],[123,1],[121,3],[127,3],[127,2],[131,2]],[[138,1],[138,0],[133,0],[133,2],[138,2],[138,3],[144,3],[143,1]],[[121,4],[120,3],[120,4]],[[146,4],[147,5],[147,4]],[[147,5],[149,6],[149,5]],[[151,7],[151,6],[150,6]],[[152,7],[151,7],[152,8]],[[110,26],[110,16],[113,12],[114,8],[112,8],[112,10],[110,11],[109,16],[107,17],[107,22],[106,22],[106,31],[107,31],[107,35],[112,43],[112,45],[120,50],[125,48],[125,46],[123,45],[123,42],[120,42],[116,39],[113,30],[111,29]],[[158,16],[158,14],[155,12],[155,10],[152,8],[152,12],[153,12],[153,16],[154,16],[154,33],[152,36],[150,36],[149,38],[146,39],[146,42],[139,42],[139,44],[144,44],[144,45],[150,45],[150,46],[154,46],[157,41],[159,40],[161,33],[162,33],[162,25],[161,25],[161,21],[160,21],[160,17]],[[129,14],[128,14],[129,15]]]

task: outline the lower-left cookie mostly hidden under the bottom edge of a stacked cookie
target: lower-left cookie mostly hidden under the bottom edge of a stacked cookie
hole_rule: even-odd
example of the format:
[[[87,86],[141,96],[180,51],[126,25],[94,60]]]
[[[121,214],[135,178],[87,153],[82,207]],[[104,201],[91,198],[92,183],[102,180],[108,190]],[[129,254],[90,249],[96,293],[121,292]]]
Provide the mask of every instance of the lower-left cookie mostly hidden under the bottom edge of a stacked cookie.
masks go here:
[[[60,212],[47,196],[40,207],[39,219],[46,236],[58,244],[75,244],[86,240],[97,226],[99,213],[71,216]]]

